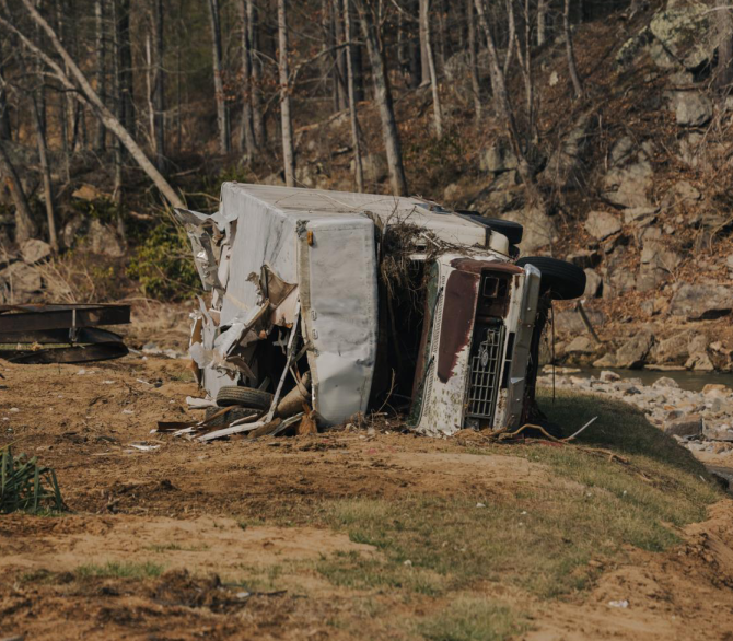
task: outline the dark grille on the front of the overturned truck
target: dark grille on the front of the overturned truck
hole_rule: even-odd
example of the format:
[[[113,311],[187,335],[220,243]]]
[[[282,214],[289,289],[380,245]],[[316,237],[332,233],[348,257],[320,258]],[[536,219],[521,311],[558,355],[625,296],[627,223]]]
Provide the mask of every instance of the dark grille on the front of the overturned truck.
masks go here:
[[[504,327],[481,326],[476,333],[480,340],[474,343],[470,357],[470,384],[466,416],[477,419],[493,419],[499,392],[499,365],[504,343]]]

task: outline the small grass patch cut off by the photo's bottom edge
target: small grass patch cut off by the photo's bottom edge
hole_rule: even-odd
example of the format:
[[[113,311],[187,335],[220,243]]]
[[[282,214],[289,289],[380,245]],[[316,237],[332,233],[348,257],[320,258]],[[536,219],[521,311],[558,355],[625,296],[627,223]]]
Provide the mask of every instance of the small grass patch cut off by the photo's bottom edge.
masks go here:
[[[458,598],[418,626],[429,641],[503,641],[524,630],[524,621],[507,606],[469,597]]]

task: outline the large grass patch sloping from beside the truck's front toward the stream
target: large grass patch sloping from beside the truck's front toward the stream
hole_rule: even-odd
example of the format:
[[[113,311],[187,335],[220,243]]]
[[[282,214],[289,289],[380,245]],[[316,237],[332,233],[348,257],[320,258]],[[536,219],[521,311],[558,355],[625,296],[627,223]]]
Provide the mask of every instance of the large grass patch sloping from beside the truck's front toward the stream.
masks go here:
[[[721,497],[687,451],[624,404],[561,396],[545,409],[573,429],[598,416],[578,443],[626,463],[547,442],[477,448],[545,465],[547,485],[511,497],[327,501],[319,517],[328,526],[382,555],[336,555],[317,570],[356,588],[441,594],[489,580],[555,597],[589,584],[597,573],[591,560],[623,556],[629,545],[667,549],[678,541],[676,527],[703,520]]]

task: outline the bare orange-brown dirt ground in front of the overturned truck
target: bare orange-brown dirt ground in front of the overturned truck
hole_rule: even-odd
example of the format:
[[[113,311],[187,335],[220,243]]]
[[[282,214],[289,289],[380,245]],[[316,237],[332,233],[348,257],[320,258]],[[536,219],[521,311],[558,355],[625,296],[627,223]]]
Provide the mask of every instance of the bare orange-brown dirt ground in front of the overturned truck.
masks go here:
[[[139,354],[84,366],[0,361],[0,446],[55,467],[73,510],[0,516],[0,639],[416,638],[394,623],[452,597],[374,590],[365,602],[329,582],[318,560],[382,551],[302,514],[324,499],[500,498],[549,482],[545,466],[509,447],[477,455],[389,426],[209,444],[151,433],[195,413],[186,368]],[[131,446],[140,443],[158,448]],[[680,536],[665,552],[629,549],[590,590],[560,599],[488,581],[478,590],[530,613],[517,638],[532,641],[733,640],[733,501]],[[151,570],[126,576],[126,563]],[[336,623],[345,616],[356,626]]]

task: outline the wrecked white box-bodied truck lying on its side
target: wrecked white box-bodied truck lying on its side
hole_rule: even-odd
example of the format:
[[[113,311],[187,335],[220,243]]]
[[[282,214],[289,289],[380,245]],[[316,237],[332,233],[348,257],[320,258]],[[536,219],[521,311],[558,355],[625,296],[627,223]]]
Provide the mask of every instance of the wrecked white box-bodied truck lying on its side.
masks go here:
[[[526,422],[550,299],[585,275],[522,258],[522,228],[419,198],[224,183],[178,210],[203,289],[190,354],[220,405],[300,389],[324,426],[373,408],[420,432]]]

